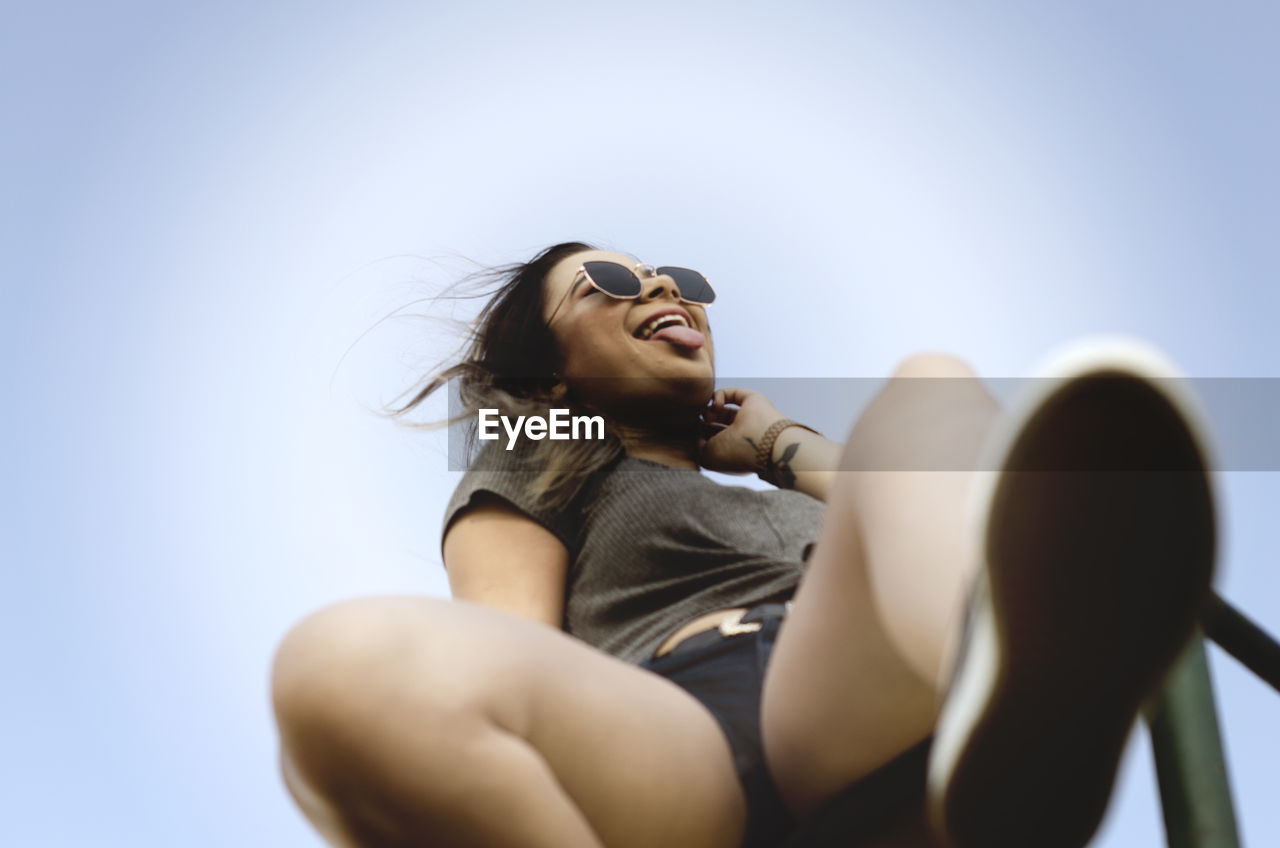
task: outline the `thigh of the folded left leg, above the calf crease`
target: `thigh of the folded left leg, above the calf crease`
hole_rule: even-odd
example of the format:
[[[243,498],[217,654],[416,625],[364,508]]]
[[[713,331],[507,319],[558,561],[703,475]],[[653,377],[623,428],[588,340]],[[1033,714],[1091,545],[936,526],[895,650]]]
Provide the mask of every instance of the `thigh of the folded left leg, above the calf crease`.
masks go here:
[[[745,801],[716,719],[676,684],[559,630],[466,602],[349,601],[285,638],[278,693],[291,675],[329,716],[311,739],[333,744],[349,729],[358,756],[333,767],[356,763],[374,784],[403,778],[439,797],[465,779],[483,788],[457,744],[479,725],[527,742],[609,848],[741,842]]]

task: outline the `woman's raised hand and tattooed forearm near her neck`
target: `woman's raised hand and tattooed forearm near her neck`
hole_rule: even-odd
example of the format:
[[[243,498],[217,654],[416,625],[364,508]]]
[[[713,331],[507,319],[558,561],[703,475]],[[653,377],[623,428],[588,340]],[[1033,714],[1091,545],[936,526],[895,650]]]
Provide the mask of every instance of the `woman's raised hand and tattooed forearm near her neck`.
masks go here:
[[[728,404],[737,409],[730,409]],[[699,442],[701,464],[713,471],[755,470],[755,451],[774,421],[785,419],[768,397],[744,388],[722,388],[707,407],[707,424],[719,432]],[[827,500],[844,446],[800,427],[788,427],[773,443],[774,483],[780,488]]]

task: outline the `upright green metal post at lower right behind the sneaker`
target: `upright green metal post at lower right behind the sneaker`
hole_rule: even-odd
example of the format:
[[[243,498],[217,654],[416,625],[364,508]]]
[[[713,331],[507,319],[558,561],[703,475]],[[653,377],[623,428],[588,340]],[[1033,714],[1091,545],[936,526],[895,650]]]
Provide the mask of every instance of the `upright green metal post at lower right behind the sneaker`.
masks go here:
[[[1169,848],[1239,848],[1213,684],[1198,630],[1146,717]]]

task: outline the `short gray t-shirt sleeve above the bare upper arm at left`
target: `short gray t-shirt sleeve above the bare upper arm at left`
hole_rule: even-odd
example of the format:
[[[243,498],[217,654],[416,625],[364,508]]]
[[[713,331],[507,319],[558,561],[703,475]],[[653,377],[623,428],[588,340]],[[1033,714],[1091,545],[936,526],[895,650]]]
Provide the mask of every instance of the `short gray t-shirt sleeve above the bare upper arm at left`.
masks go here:
[[[518,439],[511,451],[506,450],[506,444],[500,441],[489,442],[480,448],[444,507],[444,523],[440,526],[442,547],[444,534],[468,506],[481,503],[486,498],[498,498],[550,530],[564,543],[570,556],[573,556],[577,550],[581,516],[576,509],[549,510],[538,503],[532,483],[541,470],[543,465],[535,459],[535,448],[530,446],[529,439]]]

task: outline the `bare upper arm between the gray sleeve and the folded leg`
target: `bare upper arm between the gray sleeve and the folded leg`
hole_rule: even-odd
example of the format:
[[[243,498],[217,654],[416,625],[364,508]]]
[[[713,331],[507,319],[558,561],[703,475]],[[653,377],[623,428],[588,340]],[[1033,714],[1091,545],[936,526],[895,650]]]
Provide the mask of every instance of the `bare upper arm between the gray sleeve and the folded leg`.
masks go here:
[[[458,601],[563,626],[568,550],[506,502],[488,500],[460,514],[444,535],[444,567]]]

